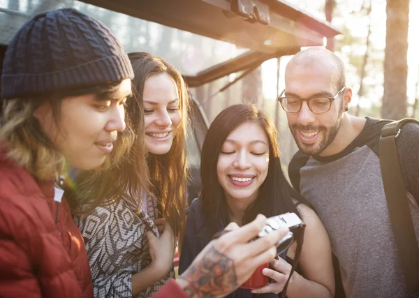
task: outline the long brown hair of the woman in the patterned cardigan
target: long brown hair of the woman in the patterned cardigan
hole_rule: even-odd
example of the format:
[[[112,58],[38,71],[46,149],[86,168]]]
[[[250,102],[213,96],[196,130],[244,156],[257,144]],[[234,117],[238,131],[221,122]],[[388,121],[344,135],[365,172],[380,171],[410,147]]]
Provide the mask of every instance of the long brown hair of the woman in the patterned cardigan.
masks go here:
[[[168,61],[147,52],[133,52],[128,54],[133,66],[133,92],[140,106],[143,106],[143,90],[145,80],[149,75],[168,73],[175,82],[179,96],[179,110],[181,122],[177,128],[172,147],[167,154],[147,154],[149,169],[149,188],[156,196],[161,216],[168,219],[170,226],[179,234],[186,218],[186,184],[188,172],[186,168],[186,126],[189,122],[189,94],[186,84],[179,71]],[[144,117],[133,114],[134,125],[144,123]],[[144,126],[144,125],[142,125]],[[145,133],[142,132],[142,138]]]

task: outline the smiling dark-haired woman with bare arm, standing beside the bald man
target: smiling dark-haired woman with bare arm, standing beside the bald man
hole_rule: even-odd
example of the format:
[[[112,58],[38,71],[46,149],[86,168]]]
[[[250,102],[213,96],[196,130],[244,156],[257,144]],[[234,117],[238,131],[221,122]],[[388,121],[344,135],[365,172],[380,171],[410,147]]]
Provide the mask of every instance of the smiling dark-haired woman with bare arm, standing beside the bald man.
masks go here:
[[[230,221],[244,225],[257,214],[294,212],[307,224],[300,255],[301,275],[294,273],[287,297],[333,297],[335,281],[328,234],[318,216],[291,188],[281,170],[277,131],[272,119],[253,105],[233,105],[212,122],[201,156],[202,192],[189,207],[179,273],[191,264],[216,232]],[[291,260],[296,245],[289,248]],[[263,274],[275,282],[257,290],[240,288],[229,297],[278,297],[291,271],[279,258]],[[270,294],[268,294],[270,293]],[[274,293],[274,294],[272,294]]]

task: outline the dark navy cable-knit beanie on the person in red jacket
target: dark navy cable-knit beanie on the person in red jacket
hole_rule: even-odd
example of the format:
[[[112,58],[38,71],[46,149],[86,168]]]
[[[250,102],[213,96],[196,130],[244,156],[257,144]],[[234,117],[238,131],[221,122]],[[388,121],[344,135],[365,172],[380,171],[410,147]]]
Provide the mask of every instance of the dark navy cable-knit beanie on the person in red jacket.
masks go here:
[[[3,61],[1,97],[16,98],[133,78],[117,38],[73,8],[36,15],[17,31]]]

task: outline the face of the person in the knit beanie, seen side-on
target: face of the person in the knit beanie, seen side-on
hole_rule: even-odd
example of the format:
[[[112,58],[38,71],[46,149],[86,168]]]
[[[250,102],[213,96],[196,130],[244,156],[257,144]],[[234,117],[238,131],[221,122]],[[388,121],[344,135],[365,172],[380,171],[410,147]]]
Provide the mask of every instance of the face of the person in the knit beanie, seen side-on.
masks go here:
[[[93,170],[102,165],[118,132],[125,129],[124,103],[130,95],[131,80],[126,79],[111,94],[64,98],[58,127],[47,103],[34,116],[72,167]]]

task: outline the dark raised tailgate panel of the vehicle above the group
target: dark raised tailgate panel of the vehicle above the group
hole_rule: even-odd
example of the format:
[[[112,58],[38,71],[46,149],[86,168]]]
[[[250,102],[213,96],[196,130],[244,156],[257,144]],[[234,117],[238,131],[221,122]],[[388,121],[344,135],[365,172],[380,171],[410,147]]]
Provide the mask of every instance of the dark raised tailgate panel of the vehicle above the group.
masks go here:
[[[281,0],[82,1],[260,52],[323,45],[340,33]]]

